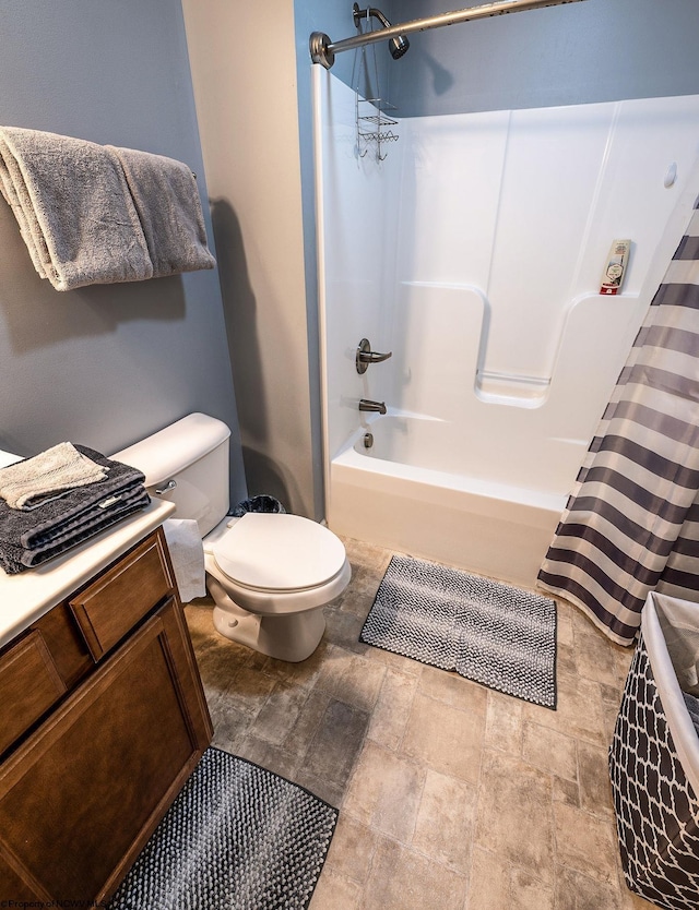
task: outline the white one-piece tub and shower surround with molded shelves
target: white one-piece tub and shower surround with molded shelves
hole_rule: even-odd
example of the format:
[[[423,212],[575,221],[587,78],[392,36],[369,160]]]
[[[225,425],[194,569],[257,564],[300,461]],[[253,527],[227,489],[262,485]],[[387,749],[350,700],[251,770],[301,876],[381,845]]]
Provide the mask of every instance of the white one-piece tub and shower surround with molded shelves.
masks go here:
[[[699,96],[399,119],[379,163],[312,69],[328,523],[531,587],[699,192]]]

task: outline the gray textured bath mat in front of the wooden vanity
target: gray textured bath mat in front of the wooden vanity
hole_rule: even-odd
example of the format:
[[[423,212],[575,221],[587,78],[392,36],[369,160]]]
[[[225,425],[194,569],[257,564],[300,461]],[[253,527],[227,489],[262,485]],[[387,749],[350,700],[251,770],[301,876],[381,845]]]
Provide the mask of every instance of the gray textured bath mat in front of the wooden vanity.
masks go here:
[[[336,822],[303,787],[208,749],[109,910],[307,908]]]

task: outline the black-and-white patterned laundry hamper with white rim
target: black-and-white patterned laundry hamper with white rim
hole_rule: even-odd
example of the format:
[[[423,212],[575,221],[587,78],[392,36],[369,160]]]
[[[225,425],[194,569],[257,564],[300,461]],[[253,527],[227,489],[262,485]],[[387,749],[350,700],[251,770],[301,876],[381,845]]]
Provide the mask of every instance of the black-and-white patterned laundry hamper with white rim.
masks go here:
[[[609,747],[621,864],[631,890],[699,908],[699,604],[650,594]]]

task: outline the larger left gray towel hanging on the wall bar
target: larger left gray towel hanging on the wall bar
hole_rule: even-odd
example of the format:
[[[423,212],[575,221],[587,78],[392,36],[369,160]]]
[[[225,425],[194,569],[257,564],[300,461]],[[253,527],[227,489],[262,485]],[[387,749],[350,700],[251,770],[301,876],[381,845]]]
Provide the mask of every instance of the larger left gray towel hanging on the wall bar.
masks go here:
[[[34,267],[56,290],[152,277],[143,229],[111,149],[0,128],[0,189]]]

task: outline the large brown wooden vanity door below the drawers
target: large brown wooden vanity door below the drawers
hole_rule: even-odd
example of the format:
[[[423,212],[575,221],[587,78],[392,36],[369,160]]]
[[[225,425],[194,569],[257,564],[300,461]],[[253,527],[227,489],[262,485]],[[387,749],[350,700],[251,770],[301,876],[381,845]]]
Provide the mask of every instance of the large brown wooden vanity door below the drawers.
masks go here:
[[[0,900],[108,897],[211,735],[170,599],[0,770]]]

